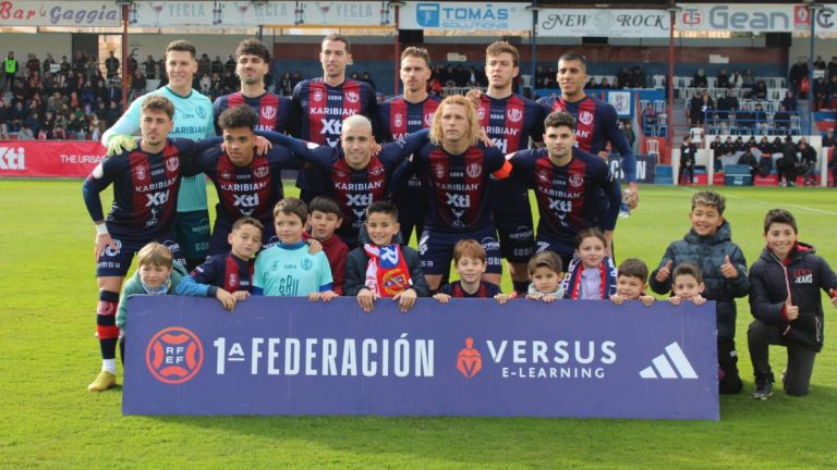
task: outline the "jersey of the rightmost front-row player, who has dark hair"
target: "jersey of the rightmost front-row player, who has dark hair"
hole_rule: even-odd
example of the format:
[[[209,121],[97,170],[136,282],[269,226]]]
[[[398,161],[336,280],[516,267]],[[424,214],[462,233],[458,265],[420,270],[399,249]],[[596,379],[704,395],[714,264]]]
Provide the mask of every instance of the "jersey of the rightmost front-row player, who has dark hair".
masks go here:
[[[611,231],[619,214],[621,195],[610,168],[598,156],[577,148],[572,160],[558,166],[545,148],[514,153],[509,162],[535,188],[541,220],[537,236],[573,246],[575,235],[592,226]],[[606,195],[607,208],[599,191]]]

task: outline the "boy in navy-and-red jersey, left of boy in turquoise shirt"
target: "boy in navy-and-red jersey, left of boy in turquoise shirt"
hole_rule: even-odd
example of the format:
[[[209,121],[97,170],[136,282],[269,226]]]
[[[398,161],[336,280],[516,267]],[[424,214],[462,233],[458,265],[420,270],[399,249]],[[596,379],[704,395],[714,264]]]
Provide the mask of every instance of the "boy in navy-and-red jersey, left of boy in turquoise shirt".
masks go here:
[[[238,300],[244,300],[253,288],[253,268],[255,256],[262,248],[263,231],[262,222],[252,217],[236,220],[227,235],[230,252],[210,257],[190,275],[199,283],[220,287]]]

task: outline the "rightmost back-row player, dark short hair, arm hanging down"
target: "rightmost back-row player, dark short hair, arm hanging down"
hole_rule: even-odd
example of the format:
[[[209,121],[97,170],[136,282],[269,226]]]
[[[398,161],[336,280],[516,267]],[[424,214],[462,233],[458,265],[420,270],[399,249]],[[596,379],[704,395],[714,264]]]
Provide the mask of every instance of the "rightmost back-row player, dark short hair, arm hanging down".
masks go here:
[[[575,136],[580,149],[607,158],[607,144],[616,148],[622,159],[622,172],[628,182],[626,202],[634,209],[640,201],[636,186],[636,160],[624,132],[619,128],[616,108],[584,92],[587,83],[587,60],[578,52],[566,52],[558,60],[560,97],[545,97],[537,102],[547,112],[566,111],[575,118]],[[605,209],[607,210],[607,209]]]

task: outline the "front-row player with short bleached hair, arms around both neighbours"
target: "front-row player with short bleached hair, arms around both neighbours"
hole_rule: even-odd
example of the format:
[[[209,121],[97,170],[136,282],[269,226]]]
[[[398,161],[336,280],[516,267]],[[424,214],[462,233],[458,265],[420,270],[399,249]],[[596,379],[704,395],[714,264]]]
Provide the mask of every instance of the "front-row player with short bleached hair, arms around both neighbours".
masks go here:
[[[338,148],[311,146],[315,147],[312,149],[304,140],[281,134],[267,135],[288,146],[299,158],[316,164],[324,173],[326,195],[337,201],[343,213],[343,223],[337,234],[350,249],[360,245],[366,209],[373,202],[386,200],[392,172],[427,143],[427,132],[423,132],[386,144],[379,154],[373,156],[372,123],[357,114],[343,121]]]

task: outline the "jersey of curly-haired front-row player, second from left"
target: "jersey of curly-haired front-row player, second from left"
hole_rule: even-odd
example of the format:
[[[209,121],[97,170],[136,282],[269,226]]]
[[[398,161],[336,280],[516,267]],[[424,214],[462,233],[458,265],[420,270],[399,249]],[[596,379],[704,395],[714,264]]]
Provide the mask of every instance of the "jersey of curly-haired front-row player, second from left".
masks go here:
[[[220,139],[216,139],[220,144]],[[244,215],[274,225],[274,206],[284,197],[282,169],[301,169],[302,160],[288,148],[274,146],[263,156],[254,154],[246,166],[236,166],[218,146],[202,151],[194,165],[209,177],[218,193],[216,214],[232,224]]]

